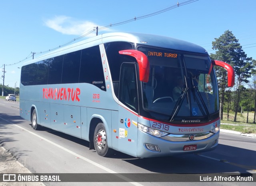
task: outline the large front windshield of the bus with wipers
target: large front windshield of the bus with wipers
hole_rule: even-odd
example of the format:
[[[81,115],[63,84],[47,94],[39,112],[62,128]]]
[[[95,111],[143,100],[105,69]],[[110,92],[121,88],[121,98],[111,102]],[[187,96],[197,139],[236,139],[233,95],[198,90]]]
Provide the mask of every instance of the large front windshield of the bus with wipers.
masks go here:
[[[202,118],[218,112],[218,86],[209,56],[158,48],[139,48],[150,63],[142,82],[146,111],[170,117]]]

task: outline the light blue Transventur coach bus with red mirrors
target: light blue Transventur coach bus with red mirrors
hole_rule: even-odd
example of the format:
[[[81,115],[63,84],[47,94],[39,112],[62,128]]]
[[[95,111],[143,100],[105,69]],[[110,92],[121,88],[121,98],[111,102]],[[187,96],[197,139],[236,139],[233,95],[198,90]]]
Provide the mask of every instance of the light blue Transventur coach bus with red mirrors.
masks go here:
[[[211,60],[195,44],[139,33],[106,33],[24,63],[20,116],[90,142],[100,156],[138,158],[213,150],[220,117]]]

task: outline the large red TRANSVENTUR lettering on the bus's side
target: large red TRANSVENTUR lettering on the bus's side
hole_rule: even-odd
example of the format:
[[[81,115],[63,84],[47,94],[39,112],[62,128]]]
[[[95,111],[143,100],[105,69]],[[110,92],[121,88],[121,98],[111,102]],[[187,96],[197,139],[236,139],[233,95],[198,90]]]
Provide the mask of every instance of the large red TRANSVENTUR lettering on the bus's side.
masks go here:
[[[43,99],[65,100],[65,101],[80,101],[79,88],[43,88]]]

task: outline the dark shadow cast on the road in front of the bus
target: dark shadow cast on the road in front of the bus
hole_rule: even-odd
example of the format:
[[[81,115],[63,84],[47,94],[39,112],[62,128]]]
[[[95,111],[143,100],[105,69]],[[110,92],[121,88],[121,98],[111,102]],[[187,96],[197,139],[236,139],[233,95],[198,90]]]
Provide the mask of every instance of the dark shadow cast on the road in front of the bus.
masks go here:
[[[222,155],[222,152],[234,152],[234,157]],[[214,158],[216,152],[225,159],[219,160]],[[144,168],[151,172],[157,173],[177,173],[177,174],[200,174],[200,173],[226,173],[239,172],[250,173],[255,171],[256,158],[254,150],[237,148],[219,144],[211,152],[201,154],[187,154],[160,158],[143,158],[143,159],[123,159],[124,161]],[[229,153],[232,154],[232,153]],[[203,156],[201,156],[203,155]]]

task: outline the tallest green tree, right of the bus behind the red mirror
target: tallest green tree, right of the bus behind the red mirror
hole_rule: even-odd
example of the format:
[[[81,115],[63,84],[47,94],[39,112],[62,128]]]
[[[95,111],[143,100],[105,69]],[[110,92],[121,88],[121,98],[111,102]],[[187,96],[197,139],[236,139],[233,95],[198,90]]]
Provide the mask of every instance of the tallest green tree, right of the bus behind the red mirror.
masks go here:
[[[224,34],[222,34],[219,38],[215,38],[215,41],[212,42],[212,49],[216,50],[216,53],[211,55],[212,59],[224,61],[232,65],[234,68],[236,74],[234,121],[236,121],[238,106],[241,98],[241,86],[242,83],[248,83],[250,69],[252,68],[252,58],[247,57],[242,50],[242,46],[240,46],[236,37],[229,30],[225,31]],[[223,119],[226,71],[224,69],[216,68],[216,73],[220,87],[220,118]]]

